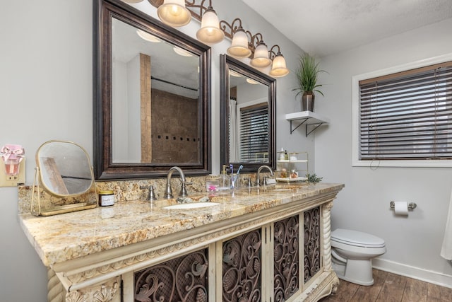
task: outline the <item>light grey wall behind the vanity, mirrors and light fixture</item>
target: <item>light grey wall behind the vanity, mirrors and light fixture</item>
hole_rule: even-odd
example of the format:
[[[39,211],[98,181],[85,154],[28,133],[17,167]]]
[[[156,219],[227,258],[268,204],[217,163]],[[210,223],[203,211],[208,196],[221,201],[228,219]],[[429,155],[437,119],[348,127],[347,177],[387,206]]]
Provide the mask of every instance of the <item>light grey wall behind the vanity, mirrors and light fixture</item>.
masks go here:
[[[148,1],[142,6],[150,6]],[[6,1],[0,9],[0,145],[22,144],[27,156],[26,183],[31,185],[35,151],[50,139],[81,144],[93,154],[93,1]],[[136,5],[139,6],[139,5]],[[244,28],[262,33],[267,45],[278,44],[295,69],[302,52],[242,1],[215,1],[220,19],[242,18]],[[155,8],[149,8],[155,16]],[[182,28],[195,36],[196,21]],[[213,172],[220,171],[220,63],[230,45],[212,52]],[[285,114],[299,111],[292,88],[295,78],[278,79],[277,147],[309,151],[313,137],[289,134]],[[8,112],[8,114],[6,114]],[[0,293],[2,301],[47,301],[47,273],[23,235],[17,219],[17,188],[0,187]],[[45,218],[43,218],[45,219]]]

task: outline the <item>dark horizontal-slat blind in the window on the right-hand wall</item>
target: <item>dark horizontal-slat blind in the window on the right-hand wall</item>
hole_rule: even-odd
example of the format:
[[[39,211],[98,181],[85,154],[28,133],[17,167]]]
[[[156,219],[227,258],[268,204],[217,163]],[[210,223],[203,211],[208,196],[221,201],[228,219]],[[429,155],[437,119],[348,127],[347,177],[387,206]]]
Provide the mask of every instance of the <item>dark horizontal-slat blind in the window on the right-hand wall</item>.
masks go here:
[[[359,81],[359,159],[452,159],[452,62]]]

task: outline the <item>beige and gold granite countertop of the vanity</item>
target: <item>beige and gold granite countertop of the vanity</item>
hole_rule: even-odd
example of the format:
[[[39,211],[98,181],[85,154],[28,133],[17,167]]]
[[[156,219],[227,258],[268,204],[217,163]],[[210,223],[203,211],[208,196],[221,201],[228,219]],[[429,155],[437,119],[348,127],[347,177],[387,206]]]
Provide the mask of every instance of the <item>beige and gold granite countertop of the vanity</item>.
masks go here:
[[[342,184],[278,185],[277,189],[238,190],[234,194],[210,195],[213,207],[165,209],[175,200],[117,202],[55,216],[20,214],[20,224],[47,267],[85,255],[140,243],[160,236],[204,226],[318,194],[338,191]],[[194,194],[192,199],[206,197]]]

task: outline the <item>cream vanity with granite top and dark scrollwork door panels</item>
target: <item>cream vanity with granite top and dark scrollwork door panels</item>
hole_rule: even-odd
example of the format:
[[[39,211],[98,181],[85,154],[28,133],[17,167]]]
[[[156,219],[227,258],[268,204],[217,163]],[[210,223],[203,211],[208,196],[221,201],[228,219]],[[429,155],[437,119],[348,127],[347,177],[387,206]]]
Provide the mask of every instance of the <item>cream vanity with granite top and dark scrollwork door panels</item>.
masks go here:
[[[49,301],[317,301],[339,283],[330,218],[342,188],[274,185],[19,218],[49,268]]]

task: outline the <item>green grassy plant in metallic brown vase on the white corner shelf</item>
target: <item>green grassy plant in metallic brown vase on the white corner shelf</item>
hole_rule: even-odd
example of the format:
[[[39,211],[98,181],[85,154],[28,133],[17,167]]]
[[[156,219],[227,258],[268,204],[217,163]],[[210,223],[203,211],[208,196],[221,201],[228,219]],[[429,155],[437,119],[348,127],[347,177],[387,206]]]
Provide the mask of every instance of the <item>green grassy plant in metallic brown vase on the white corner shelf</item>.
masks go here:
[[[292,89],[292,91],[297,91],[295,97],[302,94],[302,111],[314,111],[314,91],[323,95],[318,89],[321,84],[317,83],[317,76],[321,72],[326,71],[319,68],[319,63],[316,62],[314,57],[309,54],[303,54],[299,57],[299,65],[295,70],[298,87]]]

